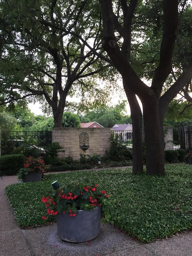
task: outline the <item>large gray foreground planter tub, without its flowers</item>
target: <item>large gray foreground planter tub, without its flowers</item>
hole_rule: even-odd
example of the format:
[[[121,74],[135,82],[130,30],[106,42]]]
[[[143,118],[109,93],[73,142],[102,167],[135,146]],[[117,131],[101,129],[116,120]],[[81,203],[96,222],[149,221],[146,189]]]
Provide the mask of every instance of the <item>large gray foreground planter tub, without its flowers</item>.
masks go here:
[[[58,236],[67,242],[82,243],[96,238],[100,232],[101,207],[79,210],[76,216],[56,214]]]

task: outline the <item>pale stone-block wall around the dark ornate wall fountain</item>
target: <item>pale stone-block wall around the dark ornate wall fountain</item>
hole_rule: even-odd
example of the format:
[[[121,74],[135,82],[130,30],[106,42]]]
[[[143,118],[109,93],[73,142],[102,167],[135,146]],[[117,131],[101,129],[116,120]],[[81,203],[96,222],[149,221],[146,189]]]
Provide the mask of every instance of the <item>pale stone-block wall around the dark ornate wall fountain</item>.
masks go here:
[[[80,148],[79,136],[82,132],[89,135],[89,148],[82,150]],[[80,154],[94,154],[102,157],[105,151],[110,148],[110,128],[54,128],[52,130],[52,142],[59,142],[65,152],[60,152],[59,157],[72,157],[75,160],[80,159]]]

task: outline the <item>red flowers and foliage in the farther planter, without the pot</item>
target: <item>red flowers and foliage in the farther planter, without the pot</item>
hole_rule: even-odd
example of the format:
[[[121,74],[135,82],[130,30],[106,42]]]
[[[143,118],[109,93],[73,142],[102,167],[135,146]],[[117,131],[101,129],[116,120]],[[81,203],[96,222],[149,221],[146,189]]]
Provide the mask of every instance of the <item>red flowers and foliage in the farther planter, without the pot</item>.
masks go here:
[[[45,173],[46,169],[47,167],[45,166],[45,163],[42,157],[37,157],[37,158],[26,157],[24,167],[21,168],[18,172],[18,179],[22,180],[25,174],[28,174],[31,172]]]

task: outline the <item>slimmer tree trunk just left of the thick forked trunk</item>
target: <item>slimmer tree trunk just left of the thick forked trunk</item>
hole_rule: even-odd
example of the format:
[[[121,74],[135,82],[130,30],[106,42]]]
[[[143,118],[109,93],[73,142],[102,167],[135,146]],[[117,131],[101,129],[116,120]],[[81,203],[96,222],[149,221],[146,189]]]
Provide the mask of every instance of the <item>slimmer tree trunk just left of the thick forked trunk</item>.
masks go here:
[[[127,99],[129,101],[129,106],[131,110],[131,119],[133,125],[133,173],[143,173],[143,147],[142,147],[142,112],[141,108],[136,99],[134,92],[129,90],[129,87],[126,85],[125,79],[123,79],[123,86]]]

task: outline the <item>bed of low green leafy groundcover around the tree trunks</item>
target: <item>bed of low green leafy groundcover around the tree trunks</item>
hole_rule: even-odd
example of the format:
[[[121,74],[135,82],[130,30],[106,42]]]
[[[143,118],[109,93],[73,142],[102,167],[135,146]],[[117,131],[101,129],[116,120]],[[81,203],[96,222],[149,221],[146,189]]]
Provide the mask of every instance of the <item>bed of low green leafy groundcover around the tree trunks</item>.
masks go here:
[[[55,221],[55,216],[42,219],[46,209],[41,198],[52,190],[51,182],[68,184],[87,177],[116,199],[115,225],[142,242],[150,242],[192,228],[192,167],[165,167],[165,176],[134,175],[131,168],[48,174],[41,182],[9,185],[6,193],[20,227],[45,225]]]

